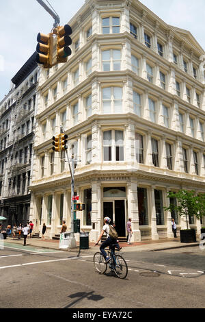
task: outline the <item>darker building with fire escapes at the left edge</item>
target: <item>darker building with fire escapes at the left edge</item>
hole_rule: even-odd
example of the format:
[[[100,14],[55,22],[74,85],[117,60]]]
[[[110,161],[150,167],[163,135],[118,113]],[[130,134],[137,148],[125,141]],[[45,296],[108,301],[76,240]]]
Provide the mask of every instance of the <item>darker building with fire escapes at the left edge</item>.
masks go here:
[[[0,103],[0,214],[4,225],[29,221],[38,64],[35,54],[12,78]]]

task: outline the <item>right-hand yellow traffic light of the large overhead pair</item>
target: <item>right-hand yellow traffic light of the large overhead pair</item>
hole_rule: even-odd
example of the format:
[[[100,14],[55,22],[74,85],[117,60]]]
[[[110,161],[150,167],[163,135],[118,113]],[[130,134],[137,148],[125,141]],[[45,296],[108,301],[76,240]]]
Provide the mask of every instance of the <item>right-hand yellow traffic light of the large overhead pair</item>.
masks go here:
[[[72,39],[70,38],[71,34],[72,28],[70,25],[57,27],[57,62],[67,62],[68,56],[71,55],[72,51],[70,47],[68,47],[72,44]]]

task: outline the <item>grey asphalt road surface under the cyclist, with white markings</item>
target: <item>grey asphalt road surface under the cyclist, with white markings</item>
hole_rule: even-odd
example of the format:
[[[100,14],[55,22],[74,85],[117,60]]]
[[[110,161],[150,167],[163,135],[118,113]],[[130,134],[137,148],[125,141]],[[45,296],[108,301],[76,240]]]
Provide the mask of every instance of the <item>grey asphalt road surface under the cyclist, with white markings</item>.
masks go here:
[[[0,308],[204,308],[199,247],[124,252],[125,280],[97,273],[89,250],[13,247],[0,249]]]

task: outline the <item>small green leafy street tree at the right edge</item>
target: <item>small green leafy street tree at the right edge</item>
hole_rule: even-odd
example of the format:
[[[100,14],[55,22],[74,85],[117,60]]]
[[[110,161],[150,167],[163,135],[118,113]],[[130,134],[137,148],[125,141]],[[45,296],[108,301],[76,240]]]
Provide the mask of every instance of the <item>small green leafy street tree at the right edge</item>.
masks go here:
[[[169,207],[164,207],[165,210],[176,210],[180,216],[185,216],[187,221],[187,230],[189,229],[189,216],[196,216],[200,219],[205,215],[205,195],[195,195],[195,191],[179,190],[177,193],[169,191],[168,198],[176,198],[177,206],[170,203]]]

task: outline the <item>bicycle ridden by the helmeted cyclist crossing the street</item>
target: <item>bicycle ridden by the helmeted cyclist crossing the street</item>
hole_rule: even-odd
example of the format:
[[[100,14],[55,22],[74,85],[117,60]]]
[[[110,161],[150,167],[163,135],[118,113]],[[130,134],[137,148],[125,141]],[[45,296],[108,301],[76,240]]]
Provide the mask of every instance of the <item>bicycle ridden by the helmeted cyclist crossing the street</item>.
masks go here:
[[[99,273],[105,274],[107,267],[109,266],[111,271],[115,273],[117,277],[124,279],[128,273],[128,267],[126,261],[121,255],[115,255],[115,248],[112,248],[113,246],[114,245],[111,245],[109,249],[106,249],[108,251],[108,256],[111,258],[108,263],[105,262],[105,258],[102,256],[100,251],[97,251],[94,254],[94,267]]]

